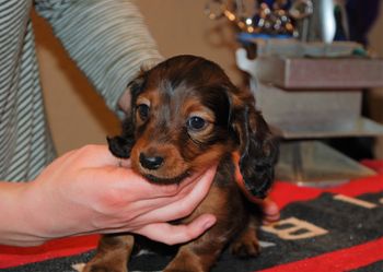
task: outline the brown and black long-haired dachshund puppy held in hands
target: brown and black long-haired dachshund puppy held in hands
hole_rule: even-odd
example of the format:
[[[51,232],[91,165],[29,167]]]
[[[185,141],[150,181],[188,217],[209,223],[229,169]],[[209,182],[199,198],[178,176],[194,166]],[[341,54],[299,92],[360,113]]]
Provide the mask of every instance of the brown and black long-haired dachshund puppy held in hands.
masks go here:
[[[131,113],[123,133],[108,139],[111,152],[131,159],[150,182],[176,184],[219,162],[206,199],[189,216],[211,213],[217,223],[199,238],[182,245],[165,272],[209,271],[229,244],[233,253],[258,253],[257,220],[235,180],[233,153],[247,192],[264,198],[274,179],[278,144],[249,92],[235,87],[216,63],[177,56],[159,63],[129,84]],[[84,271],[127,271],[135,239],[104,235]]]

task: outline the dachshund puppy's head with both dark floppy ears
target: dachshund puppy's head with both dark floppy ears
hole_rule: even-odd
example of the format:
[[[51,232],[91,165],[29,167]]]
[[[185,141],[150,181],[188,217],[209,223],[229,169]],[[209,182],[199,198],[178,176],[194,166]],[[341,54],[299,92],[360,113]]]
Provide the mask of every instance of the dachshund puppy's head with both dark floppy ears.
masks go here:
[[[216,63],[178,56],[129,84],[131,113],[123,134],[108,139],[119,157],[153,182],[178,182],[239,151],[247,189],[263,197],[274,178],[277,145],[255,110]]]

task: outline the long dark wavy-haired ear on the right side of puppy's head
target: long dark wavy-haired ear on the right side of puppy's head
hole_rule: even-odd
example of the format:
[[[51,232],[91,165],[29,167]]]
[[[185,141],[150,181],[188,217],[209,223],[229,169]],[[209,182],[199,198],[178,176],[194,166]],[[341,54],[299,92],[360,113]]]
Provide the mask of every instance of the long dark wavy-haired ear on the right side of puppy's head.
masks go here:
[[[234,106],[231,121],[240,142],[240,170],[246,189],[257,198],[265,198],[274,181],[278,141],[255,109],[253,97],[242,102]]]

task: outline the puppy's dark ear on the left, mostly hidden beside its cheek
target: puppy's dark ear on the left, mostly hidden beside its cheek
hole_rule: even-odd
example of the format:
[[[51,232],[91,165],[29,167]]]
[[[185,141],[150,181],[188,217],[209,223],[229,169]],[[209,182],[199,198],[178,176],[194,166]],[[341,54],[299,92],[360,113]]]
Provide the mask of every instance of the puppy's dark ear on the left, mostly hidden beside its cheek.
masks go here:
[[[142,91],[144,82],[144,72],[141,73],[128,84],[127,92],[130,92],[130,113],[127,113],[123,121],[121,135],[106,138],[109,151],[116,157],[128,158],[135,145],[135,102],[138,94]]]

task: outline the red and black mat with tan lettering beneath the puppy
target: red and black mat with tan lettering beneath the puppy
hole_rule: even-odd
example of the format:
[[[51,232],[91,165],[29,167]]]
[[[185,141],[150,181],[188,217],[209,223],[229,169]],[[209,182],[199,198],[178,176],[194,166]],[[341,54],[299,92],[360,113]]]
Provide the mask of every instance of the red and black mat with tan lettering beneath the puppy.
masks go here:
[[[382,272],[383,163],[381,174],[330,189],[277,182],[271,198],[281,220],[259,232],[262,253],[236,259],[224,252],[213,271],[222,272]],[[94,253],[98,236],[54,240],[40,247],[0,246],[0,270],[70,272]],[[140,255],[129,271],[161,271],[170,256]]]

